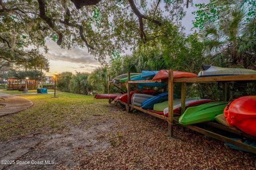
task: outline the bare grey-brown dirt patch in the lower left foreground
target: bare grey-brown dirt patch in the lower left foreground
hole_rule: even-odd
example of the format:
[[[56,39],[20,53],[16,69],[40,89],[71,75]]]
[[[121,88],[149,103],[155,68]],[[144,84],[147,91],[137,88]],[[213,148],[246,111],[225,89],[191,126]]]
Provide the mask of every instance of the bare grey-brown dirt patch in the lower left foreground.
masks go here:
[[[109,142],[99,141],[95,137],[98,133],[111,129],[114,120],[93,125],[89,129],[71,128],[65,134],[36,134],[29,137],[1,143],[1,160],[29,161],[29,165],[10,165],[6,169],[55,169],[56,166],[65,165],[68,169],[77,162],[73,152],[83,149],[83,152],[92,152],[106,149]],[[31,165],[31,160],[36,162],[54,160],[54,165]],[[5,166],[0,165],[0,169]]]

